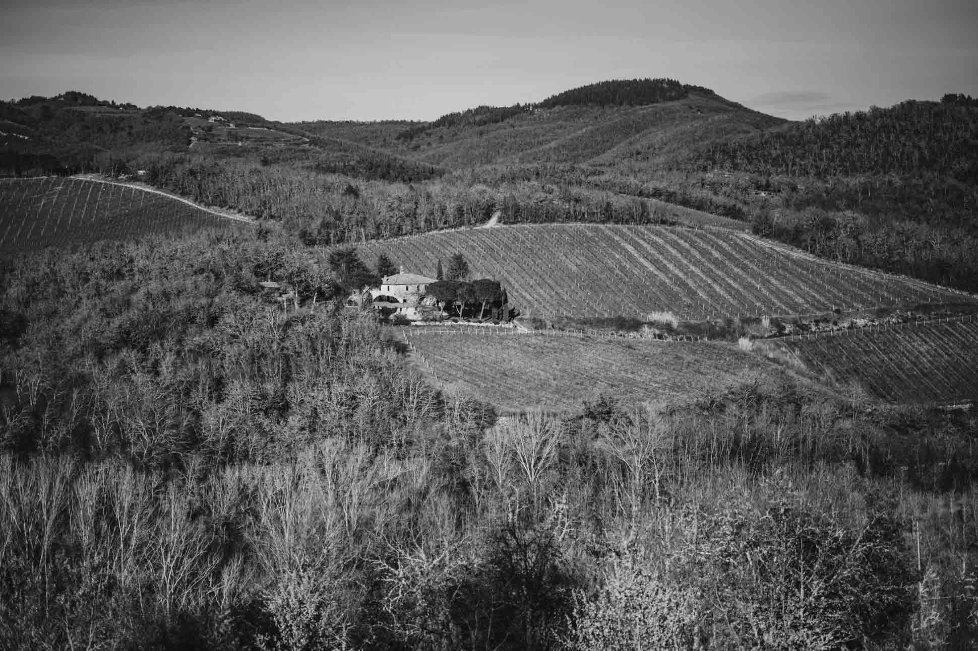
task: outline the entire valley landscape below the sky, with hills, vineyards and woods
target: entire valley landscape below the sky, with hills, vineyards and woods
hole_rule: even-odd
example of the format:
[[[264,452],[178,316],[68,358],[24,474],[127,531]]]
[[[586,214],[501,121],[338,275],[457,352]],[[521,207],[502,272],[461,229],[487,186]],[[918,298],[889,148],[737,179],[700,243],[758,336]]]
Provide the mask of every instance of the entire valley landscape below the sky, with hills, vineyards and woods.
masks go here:
[[[0,102],[0,647],[967,648],[976,128]]]

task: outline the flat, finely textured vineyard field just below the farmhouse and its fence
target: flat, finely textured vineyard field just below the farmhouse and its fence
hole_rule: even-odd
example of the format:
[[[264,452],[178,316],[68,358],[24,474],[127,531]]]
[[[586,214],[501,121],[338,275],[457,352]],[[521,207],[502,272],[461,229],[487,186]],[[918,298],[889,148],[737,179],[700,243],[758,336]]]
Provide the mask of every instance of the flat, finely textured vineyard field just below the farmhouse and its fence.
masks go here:
[[[718,342],[678,343],[404,328],[417,366],[433,384],[503,412],[546,405],[580,409],[601,394],[622,405],[689,401],[750,370],[770,372],[762,358]]]

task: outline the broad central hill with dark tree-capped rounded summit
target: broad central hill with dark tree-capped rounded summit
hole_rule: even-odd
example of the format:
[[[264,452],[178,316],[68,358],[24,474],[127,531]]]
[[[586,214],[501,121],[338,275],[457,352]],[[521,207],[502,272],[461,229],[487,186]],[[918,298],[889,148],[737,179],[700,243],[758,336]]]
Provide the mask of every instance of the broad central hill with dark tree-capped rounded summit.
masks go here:
[[[449,169],[467,169],[541,163],[607,166],[623,154],[648,167],[682,152],[690,139],[702,142],[782,122],[709,89],[645,79],[600,82],[539,104],[447,113],[396,134],[395,123],[307,122],[302,127]]]

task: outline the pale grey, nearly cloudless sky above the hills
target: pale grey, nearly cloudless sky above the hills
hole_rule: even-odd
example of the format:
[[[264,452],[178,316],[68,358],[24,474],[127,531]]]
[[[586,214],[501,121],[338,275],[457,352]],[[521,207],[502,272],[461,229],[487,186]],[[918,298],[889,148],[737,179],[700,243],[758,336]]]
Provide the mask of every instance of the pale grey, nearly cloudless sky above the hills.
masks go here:
[[[974,0],[0,0],[0,98],[432,120],[670,77],[789,119],[978,96]]]

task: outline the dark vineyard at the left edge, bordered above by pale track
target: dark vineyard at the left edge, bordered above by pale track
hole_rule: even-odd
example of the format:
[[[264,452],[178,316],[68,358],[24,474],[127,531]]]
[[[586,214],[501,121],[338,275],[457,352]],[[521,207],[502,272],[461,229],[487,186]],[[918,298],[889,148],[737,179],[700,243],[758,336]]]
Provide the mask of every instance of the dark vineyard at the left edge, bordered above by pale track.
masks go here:
[[[0,254],[236,222],[180,199],[88,179],[0,179]]]

